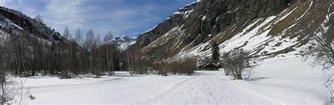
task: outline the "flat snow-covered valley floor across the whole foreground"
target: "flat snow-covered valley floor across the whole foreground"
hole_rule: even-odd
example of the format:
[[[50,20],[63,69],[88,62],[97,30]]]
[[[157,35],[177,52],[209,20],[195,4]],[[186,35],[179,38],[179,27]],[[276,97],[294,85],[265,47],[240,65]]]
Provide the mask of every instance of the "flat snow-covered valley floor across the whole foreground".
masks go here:
[[[23,104],[323,104],[323,73],[295,56],[259,61],[252,76],[231,80],[223,70],[195,75],[135,75],[60,80],[27,78],[37,99]]]

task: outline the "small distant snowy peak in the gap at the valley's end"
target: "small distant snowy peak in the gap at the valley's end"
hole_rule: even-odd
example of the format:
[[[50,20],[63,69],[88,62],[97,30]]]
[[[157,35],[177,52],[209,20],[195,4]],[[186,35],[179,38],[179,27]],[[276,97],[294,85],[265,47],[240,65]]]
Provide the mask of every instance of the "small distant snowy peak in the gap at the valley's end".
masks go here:
[[[122,37],[114,37],[113,39],[109,40],[108,42],[105,42],[104,44],[114,44],[118,47],[120,50],[128,49],[128,46],[135,44],[137,37],[128,37],[128,36],[122,36]]]

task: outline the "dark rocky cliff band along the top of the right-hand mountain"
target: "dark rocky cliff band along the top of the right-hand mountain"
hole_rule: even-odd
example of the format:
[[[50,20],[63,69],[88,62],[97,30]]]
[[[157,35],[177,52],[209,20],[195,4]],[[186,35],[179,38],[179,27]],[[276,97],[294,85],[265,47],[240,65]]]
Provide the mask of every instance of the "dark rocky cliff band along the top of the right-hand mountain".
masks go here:
[[[187,30],[187,34],[202,34],[203,37],[211,33],[216,35],[233,23],[276,15],[292,2],[292,0],[203,0],[180,8],[163,23],[142,33],[135,45],[140,48],[145,47],[173,27],[180,25],[185,25],[184,29],[192,29]],[[186,14],[187,11],[192,12]],[[185,18],[186,15],[190,15],[190,18]],[[196,42],[202,42],[205,38],[199,39]]]

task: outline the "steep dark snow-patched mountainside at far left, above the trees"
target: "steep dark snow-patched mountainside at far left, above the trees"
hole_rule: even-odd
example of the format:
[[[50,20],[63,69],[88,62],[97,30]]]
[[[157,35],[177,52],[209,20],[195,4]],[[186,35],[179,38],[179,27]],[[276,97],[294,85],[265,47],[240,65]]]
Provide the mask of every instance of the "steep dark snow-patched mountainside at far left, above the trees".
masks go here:
[[[25,16],[23,13],[5,7],[0,7],[0,42],[4,42],[11,34],[27,33],[33,38],[43,39],[45,42],[66,41],[51,27],[42,22]]]

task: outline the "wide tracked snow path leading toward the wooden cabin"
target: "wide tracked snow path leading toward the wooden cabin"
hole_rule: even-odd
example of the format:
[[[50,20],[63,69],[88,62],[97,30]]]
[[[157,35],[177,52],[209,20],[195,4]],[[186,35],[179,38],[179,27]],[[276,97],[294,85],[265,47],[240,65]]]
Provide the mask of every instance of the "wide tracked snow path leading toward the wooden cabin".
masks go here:
[[[199,75],[154,95],[137,104],[310,104],[308,100],[298,96],[309,96],[306,92],[268,87],[283,94],[258,92],[263,86],[243,80],[230,80],[221,74],[223,71],[211,72],[210,75]],[[268,89],[263,89],[268,91]],[[290,93],[292,92],[292,93]],[[265,93],[265,94],[264,94]],[[295,97],[295,99],[287,99]],[[317,98],[317,97],[315,97]]]

